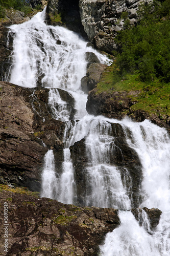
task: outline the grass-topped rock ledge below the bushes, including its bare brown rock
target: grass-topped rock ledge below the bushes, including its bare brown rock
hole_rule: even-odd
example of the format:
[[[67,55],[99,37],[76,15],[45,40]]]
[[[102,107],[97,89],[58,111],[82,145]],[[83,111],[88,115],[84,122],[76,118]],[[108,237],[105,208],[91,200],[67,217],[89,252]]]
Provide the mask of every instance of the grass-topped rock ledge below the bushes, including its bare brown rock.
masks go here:
[[[169,96],[161,95],[158,89],[152,91],[152,87],[146,84],[139,87],[140,81],[133,79],[128,81],[127,78],[113,84],[113,66],[105,68],[100,81],[88,93],[87,112],[118,120],[126,116],[138,122],[149,119],[170,130]],[[150,95],[157,99],[156,103],[152,102]]]

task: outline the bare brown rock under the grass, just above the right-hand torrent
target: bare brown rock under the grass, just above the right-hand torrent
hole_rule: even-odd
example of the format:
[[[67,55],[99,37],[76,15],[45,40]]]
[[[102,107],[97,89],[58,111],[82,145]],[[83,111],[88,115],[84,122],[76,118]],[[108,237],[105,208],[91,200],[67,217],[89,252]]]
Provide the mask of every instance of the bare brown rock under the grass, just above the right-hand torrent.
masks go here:
[[[144,119],[149,119],[153,123],[170,129],[169,116],[161,118],[158,115],[150,114],[142,109],[133,110],[131,106],[136,104],[132,97],[137,96],[140,91],[114,91],[114,88],[99,93],[97,88],[94,88],[88,94],[86,110],[92,115],[103,115],[109,118],[121,120],[126,116],[130,116],[133,120],[142,122]]]

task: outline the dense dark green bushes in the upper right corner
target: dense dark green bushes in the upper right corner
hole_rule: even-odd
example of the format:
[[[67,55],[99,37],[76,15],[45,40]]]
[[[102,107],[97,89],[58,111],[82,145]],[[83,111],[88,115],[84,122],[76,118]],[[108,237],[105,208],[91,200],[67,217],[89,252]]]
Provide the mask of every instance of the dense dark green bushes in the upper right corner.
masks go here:
[[[137,72],[141,81],[170,82],[170,0],[142,6],[139,14],[140,23],[120,31],[115,39],[119,73]]]

